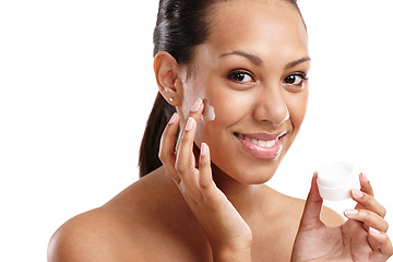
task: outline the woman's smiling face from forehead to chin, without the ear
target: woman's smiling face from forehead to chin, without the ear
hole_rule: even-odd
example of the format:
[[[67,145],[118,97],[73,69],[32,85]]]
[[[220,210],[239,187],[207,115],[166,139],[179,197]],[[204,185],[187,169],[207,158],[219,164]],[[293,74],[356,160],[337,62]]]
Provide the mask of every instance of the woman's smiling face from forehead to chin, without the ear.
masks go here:
[[[214,168],[231,178],[265,182],[305,117],[307,32],[296,8],[278,0],[217,3],[211,17],[209,39],[184,70],[180,110],[207,98],[215,119],[199,122],[195,144],[206,142]]]

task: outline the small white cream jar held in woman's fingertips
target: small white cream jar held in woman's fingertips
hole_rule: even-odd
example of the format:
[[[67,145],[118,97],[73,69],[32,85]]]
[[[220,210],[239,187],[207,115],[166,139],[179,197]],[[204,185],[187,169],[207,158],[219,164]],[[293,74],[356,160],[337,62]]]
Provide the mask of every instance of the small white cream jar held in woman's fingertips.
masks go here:
[[[331,201],[349,199],[350,190],[360,188],[358,175],[354,165],[346,162],[322,166],[317,179],[320,195]]]

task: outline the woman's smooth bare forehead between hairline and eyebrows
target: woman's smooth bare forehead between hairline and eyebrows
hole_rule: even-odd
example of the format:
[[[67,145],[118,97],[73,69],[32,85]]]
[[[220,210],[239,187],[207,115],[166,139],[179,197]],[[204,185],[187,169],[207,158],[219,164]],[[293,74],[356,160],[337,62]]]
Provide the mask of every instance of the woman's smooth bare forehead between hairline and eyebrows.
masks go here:
[[[275,59],[308,55],[301,15],[283,0],[233,0],[215,4],[205,44],[214,52],[239,49]]]

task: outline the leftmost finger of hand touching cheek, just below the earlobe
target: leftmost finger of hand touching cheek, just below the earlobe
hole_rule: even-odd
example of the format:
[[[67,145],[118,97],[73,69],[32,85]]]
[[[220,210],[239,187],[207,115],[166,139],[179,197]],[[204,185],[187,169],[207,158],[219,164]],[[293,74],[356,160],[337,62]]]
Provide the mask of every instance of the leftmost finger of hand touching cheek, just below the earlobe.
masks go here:
[[[175,143],[176,143],[176,133],[179,127],[179,115],[175,112],[168,124],[166,126],[159,144],[158,157],[163,163],[166,171],[170,175],[170,177],[175,180],[175,182],[179,183],[180,178],[175,170]]]

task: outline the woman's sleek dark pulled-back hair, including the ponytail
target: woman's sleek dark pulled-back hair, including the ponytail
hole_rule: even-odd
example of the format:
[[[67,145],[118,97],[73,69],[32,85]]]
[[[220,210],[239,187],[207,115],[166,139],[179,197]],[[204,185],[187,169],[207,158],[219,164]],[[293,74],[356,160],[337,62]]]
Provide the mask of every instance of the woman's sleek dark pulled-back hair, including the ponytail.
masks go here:
[[[154,29],[154,52],[169,52],[178,63],[188,63],[193,49],[209,36],[210,15],[213,4],[228,0],[160,0]],[[284,0],[297,9],[297,0]],[[158,158],[160,135],[176,111],[158,93],[148,117],[140,148],[140,177],[163,164]]]

